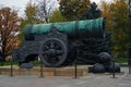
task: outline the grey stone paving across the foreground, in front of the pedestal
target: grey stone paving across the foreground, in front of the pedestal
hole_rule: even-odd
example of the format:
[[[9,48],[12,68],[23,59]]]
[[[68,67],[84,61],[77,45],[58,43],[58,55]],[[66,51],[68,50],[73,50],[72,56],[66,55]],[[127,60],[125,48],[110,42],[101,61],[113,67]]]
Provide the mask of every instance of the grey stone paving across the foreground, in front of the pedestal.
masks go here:
[[[34,75],[13,76],[0,75],[0,87],[131,87],[131,75],[128,69],[124,74],[96,74],[79,78],[68,76],[46,76],[40,78]]]

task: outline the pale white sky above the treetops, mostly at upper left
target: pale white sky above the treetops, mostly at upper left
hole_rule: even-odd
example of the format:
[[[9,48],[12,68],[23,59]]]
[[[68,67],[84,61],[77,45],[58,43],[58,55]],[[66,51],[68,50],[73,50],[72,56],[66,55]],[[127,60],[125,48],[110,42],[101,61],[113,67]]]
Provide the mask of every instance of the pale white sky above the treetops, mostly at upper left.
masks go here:
[[[25,5],[27,4],[29,0],[0,0],[0,7],[10,7],[10,8],[16,8],[19,10],[19,15],[24,15]],[[32,0],[36,1],[36,0]],[[52,0],[55,1],[55,0]],[[102,0],[91,0],[92,2],[99,3]],[[112,0],[104,0],[104,1],[112,1]]]

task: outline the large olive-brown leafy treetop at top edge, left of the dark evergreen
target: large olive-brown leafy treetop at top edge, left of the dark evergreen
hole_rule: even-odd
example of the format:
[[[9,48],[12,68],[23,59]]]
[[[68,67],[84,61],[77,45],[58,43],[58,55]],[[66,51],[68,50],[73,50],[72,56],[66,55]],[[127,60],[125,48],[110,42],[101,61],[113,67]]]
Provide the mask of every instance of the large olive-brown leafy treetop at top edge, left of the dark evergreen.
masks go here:
[[[90,0],[60,0],[60,12],[68,20],[79,20],[88,10]]]

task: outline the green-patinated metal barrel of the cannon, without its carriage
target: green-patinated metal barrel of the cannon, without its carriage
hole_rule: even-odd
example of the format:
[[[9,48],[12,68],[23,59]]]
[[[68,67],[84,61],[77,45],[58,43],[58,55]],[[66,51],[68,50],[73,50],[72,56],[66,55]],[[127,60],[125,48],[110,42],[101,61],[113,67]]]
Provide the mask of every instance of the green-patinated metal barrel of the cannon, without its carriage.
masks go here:
[[[35,35],[46,35],[56,28],[58,32],[68,34],[72,37],[104,37],[105,20],[84,20],[49,24],[31,24],[26,25],[24,36],[26,40],[34,40]]]

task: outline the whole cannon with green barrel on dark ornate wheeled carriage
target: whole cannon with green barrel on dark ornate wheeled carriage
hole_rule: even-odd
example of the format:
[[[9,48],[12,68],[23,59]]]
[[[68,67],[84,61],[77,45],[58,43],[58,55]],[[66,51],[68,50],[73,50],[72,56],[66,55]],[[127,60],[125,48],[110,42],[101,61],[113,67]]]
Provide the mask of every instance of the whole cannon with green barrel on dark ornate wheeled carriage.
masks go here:
[[[72,63],[76,58],[74,41],[81,38],[103,38],[105,20],[73,21],[50,24],[26,25],[25,42],[12,53],[19,62],[33,61],[39,57],[46,66],[61,66]]]

